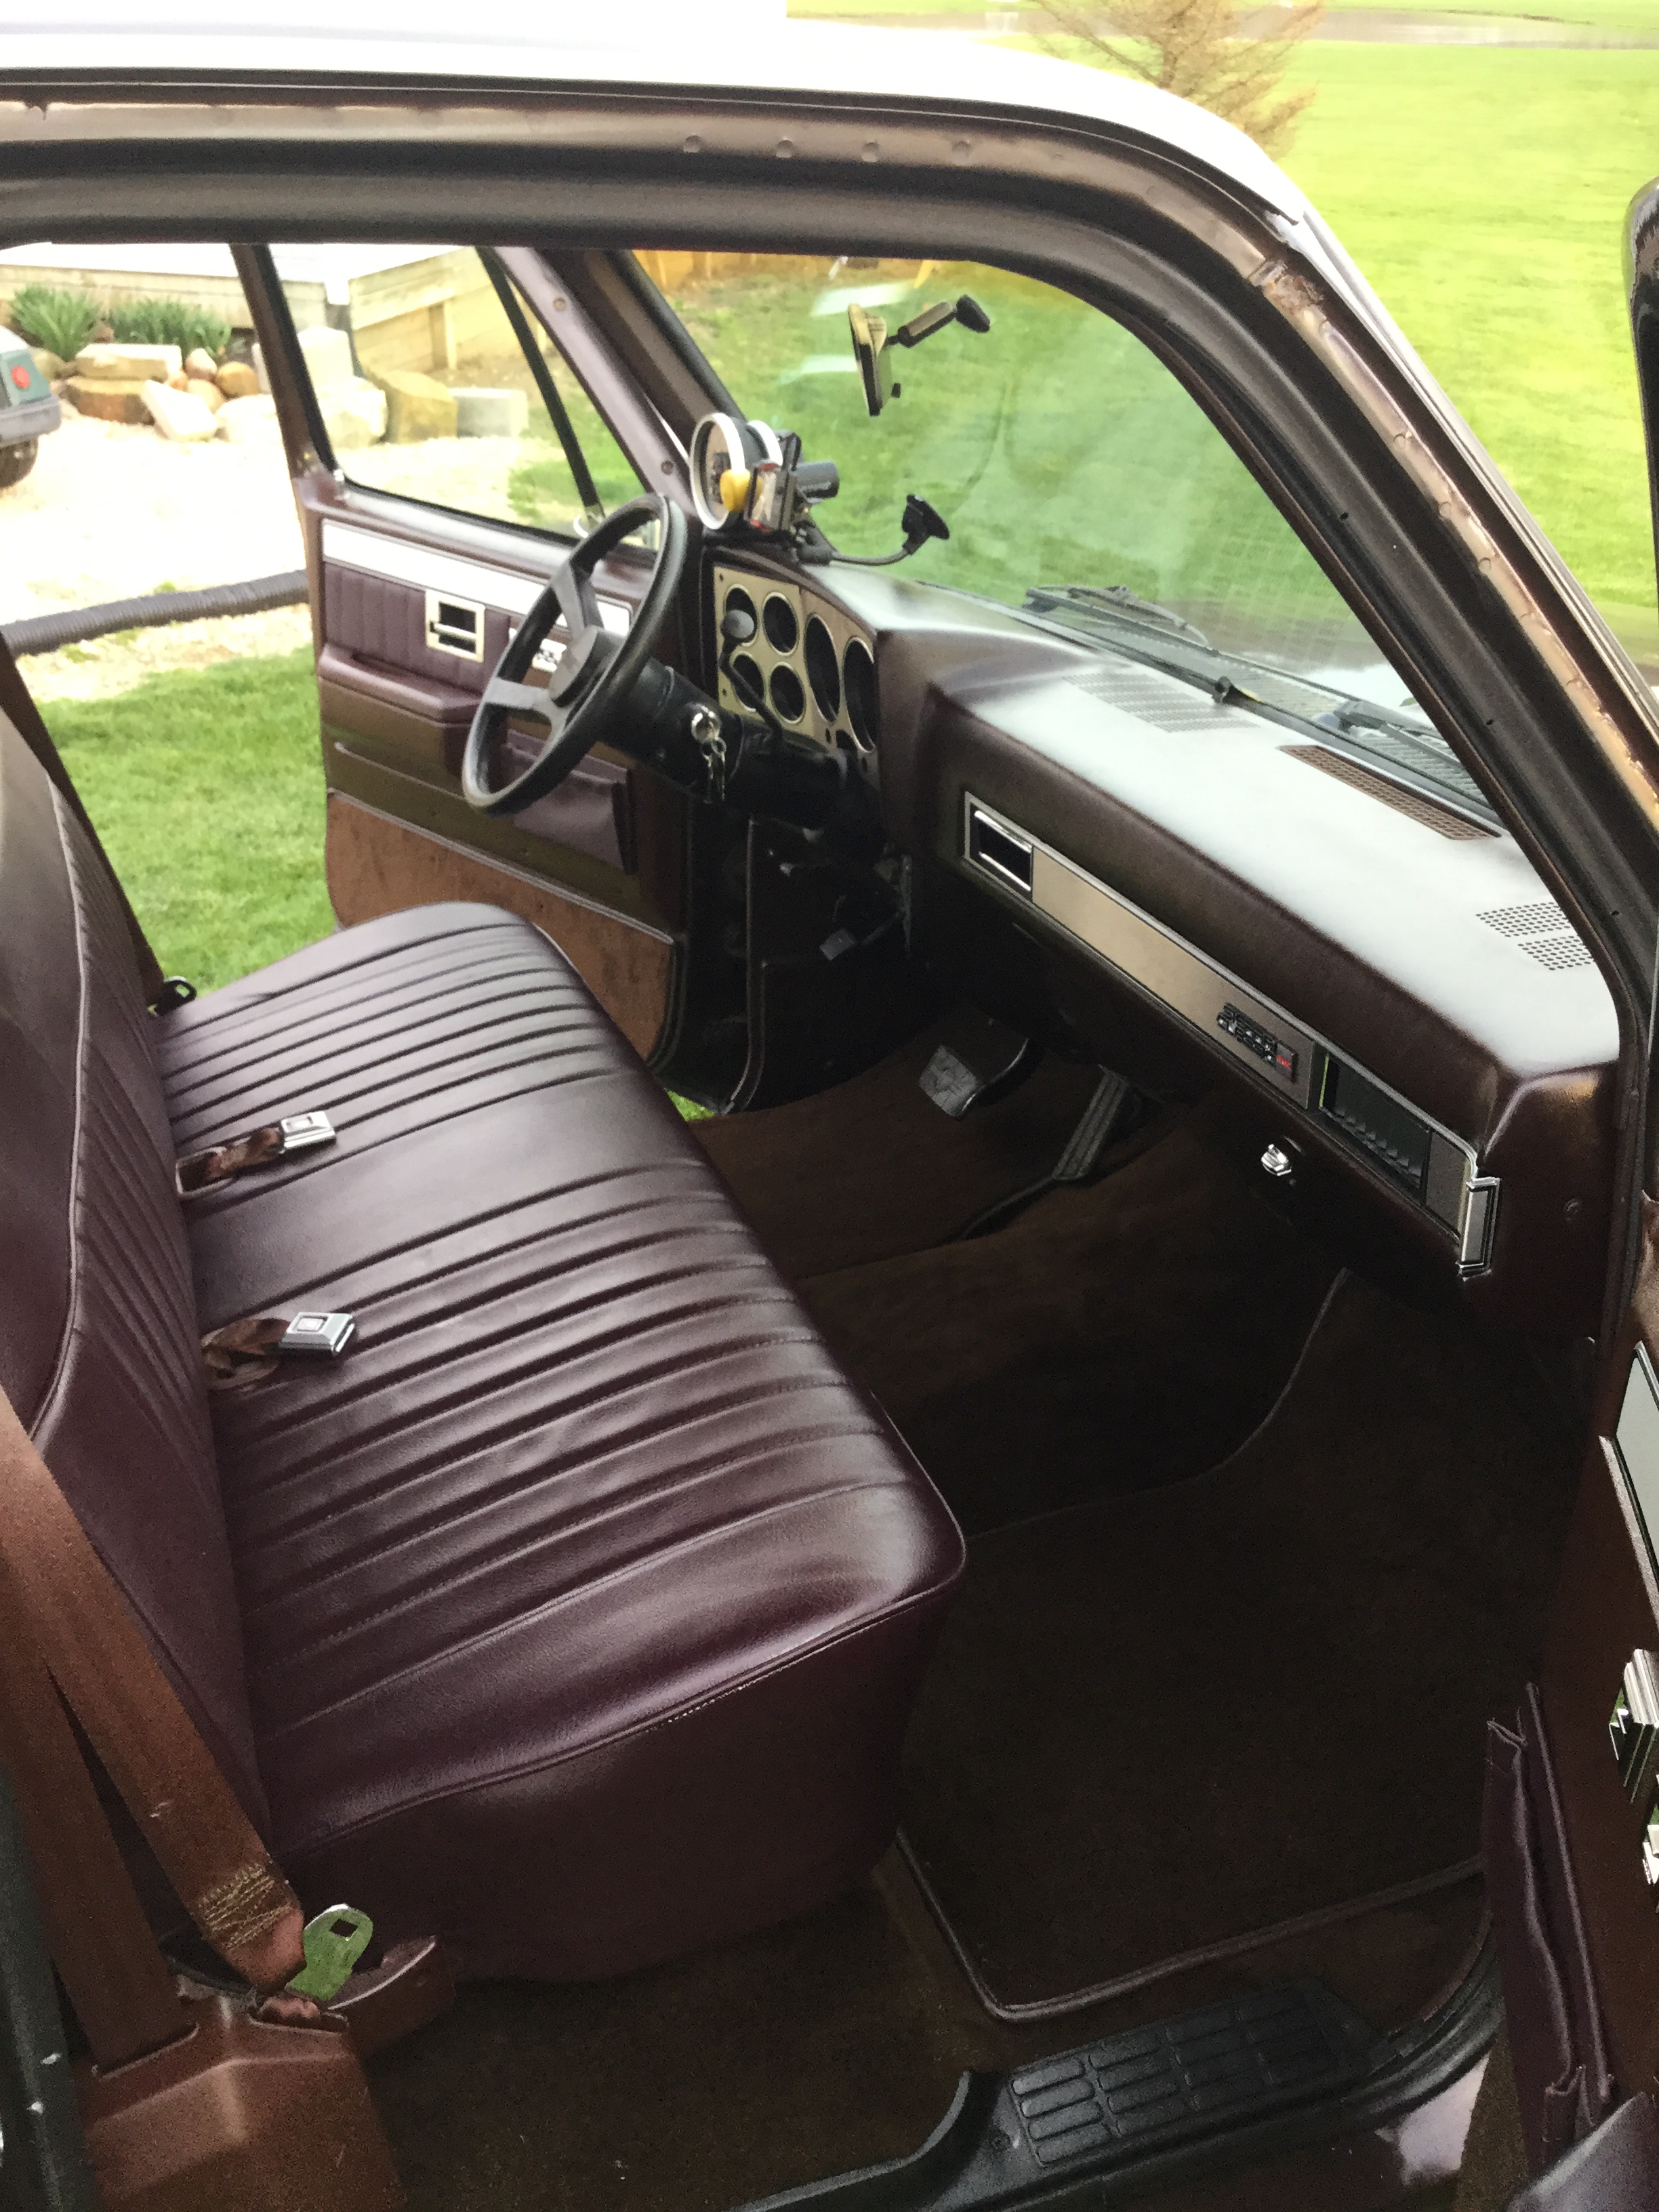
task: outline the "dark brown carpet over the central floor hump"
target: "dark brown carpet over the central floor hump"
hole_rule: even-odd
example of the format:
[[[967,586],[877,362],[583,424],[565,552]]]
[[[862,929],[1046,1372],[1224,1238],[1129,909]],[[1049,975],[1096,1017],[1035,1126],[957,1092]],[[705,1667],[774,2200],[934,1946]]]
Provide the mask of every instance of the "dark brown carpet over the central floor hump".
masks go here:
[[[1221,1157],[1208,1110],[969,1243],[805,1298],[969,1535],[1214,1467],[1336,1276]]]

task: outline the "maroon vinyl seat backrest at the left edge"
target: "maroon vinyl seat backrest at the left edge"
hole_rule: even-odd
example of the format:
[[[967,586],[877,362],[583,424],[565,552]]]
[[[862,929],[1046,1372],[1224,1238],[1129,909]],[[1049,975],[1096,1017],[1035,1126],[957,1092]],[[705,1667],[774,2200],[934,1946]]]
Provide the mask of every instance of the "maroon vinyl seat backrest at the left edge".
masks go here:
[[[108,876],[0,721],[0,1380],[263,1818],[153,1029]]]

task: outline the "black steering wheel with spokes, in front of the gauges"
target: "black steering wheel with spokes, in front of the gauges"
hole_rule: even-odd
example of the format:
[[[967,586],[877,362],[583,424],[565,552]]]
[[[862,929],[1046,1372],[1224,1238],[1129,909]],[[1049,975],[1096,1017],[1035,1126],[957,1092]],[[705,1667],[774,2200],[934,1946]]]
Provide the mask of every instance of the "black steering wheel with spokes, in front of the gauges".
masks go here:
[[[599,617],[593,571],[646,522],[661,526],[657,560],[628,635],[613,637]],[[615,721],[639,681],[675,604],[684,568],[686,518],[672,500],[657,498],[655,491],[617,507],[568,560],[557,564],[546,591],[507,641],[507,653],[495,661],[495,672],[478,701],[460,761],[460,787],[469,807],[478,807],[480,814],[520,814],[531,801],[564,783],[584,752],[604,737],[606,723]],[[566,626],[566,646],[553,675],[538,688],[524,677],[557,622]],[[546,737],[531,765],[495,790],[489,783],[489,763],[513,714],[544,723]]]

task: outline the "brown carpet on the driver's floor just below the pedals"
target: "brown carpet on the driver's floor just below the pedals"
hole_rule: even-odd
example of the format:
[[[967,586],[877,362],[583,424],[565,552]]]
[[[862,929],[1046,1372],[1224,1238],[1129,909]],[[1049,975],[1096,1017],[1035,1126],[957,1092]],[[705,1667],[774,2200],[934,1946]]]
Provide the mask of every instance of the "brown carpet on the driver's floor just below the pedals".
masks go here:
[[[816,1097],[692,1124],[785,1274],[945,1243],[1060,1159],[1099,1068],[1051,1055],[998,1106],[951,1121],[916,1082],[947,1029]]]

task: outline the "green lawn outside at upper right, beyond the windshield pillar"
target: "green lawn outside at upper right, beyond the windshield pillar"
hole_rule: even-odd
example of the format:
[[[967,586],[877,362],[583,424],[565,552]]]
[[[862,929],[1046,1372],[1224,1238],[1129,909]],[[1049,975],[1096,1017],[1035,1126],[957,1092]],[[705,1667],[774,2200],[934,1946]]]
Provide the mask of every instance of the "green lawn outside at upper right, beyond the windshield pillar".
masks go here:
[[[1318,97],[1285,168],[1593,597],[1652,622],[1619,257],[1659,51],[1321,44],[1296,75]]]

